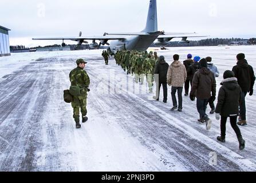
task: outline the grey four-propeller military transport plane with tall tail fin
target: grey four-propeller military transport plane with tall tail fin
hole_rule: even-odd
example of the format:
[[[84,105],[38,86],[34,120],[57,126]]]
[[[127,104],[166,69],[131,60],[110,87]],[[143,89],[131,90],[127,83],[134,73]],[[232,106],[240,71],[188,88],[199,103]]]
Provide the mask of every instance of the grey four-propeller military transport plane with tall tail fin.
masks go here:
[[[157,8],[156,0],[150,0],[148,9],[148,18],[145,29],[139,33],[104,33],[101,36],[81,36],[79,37],[60,37],[60,38],[33,38],[33,40],[62,40],[62,46],[65,46],[64,40],[77,41],[78,45],[88,43],[85,40],[92,40],[90,48],[97,49],[101,45],[108,45],[112,52],[117,50],[138,50],[145,51],[157,39],[155,46],[166,46],[173,38],[182,38],[179,43],[190,43],[188,37],[206,37],[198,36],[195,33],[165,33],[157,29]],[[100,41],[98,44],[97,41]],[[108,41],[112,41],[108,43]]]

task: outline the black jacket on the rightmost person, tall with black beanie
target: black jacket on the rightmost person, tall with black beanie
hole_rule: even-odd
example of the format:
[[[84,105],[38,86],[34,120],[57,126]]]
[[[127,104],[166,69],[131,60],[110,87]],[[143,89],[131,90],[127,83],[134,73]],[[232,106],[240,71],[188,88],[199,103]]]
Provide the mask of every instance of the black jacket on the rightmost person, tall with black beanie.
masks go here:
[[[233,67],[232,71],[235,73],[238,84],[242,89],[242,92],[250,92],[253,90],[255,82],[255,75],[253,67],[251,67],[246,59],[241,59],[237,62],[237,65]]]

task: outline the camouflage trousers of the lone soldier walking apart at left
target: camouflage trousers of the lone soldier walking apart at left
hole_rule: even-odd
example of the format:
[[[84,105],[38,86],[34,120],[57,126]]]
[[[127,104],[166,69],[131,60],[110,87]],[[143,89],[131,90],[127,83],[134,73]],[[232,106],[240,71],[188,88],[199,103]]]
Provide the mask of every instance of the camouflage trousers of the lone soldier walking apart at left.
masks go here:
[[[72,108],[73,108],[73,118],[74,121],[79,122],[80,121],[80,109],[81,109],[81,113],[82,116],[86,116],[87,114],[87,109],[86,109],[86,105],[87,105],[87,96],[82,96],[82,97],[74,97],[74,101],[72,102]]]

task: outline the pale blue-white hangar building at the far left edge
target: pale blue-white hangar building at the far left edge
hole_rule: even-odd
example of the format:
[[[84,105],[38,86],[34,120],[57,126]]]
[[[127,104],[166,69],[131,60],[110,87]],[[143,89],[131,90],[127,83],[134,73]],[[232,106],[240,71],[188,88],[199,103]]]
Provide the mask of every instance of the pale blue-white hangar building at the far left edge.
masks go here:
[[[0,57],[11,55],[8,31],[10,29],[0,26]]]

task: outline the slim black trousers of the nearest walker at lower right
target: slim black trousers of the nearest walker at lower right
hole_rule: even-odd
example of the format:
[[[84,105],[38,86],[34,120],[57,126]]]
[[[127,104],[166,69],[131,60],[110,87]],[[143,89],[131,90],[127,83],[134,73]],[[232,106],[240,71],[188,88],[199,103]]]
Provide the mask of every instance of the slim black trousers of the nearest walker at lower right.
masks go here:
[[[227,123],[227,117],[222,116],[220,120],[220,132],[221,132],[220,136],[221,137],[226,136],[226,123]],[[230,124],[234,129],[235,134],[237,134],[237,138],[241,138],[242,135],[241,135],[240,129],[237,126],[237,116],[230,117]]]

